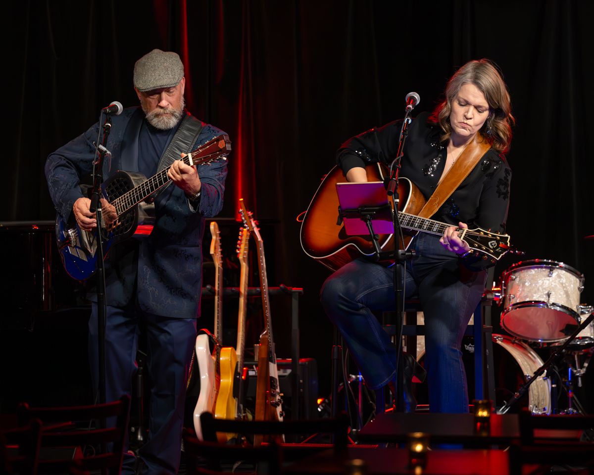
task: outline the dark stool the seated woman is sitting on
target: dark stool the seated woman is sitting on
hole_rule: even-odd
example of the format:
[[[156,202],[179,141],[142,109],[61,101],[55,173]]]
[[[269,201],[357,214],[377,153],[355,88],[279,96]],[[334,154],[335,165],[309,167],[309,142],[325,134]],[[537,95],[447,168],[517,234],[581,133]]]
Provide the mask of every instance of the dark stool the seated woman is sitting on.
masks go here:
[[[492,282],[494,268],[491,267],[487,273],[487,283]],[[475,399],[485,399],[495,403],[495,366],[493,360],[493,340],[491,335],[493,327],[491,323],[491,306],[493,302],[490,287],[485,290],[481,302],[478,303],[473,313],[473,323],[469,324],[465,336],[474,337],[475,341]],[[419,300],[405,300],[405,324],[402,335],[406,338],[406,348],[416,359],[416,337],[425,334],[425,325],[417,325],[417,312],[422,312]],[[386,314],[387,312],[384,312]],[[396,325],[384,325],[384,331],[390,336],[397,334]],[[414,349],[412,352],[409,349]],[[485,378],[486,372],[486,378]],[[486,391],[486,392],[485,392]],[[381,389],[376,394],[382,392]],[[383,392],[379,395],[383,400]],[[379,400],[378,400],[379,402]],[[383,412],[384,405],[377,404],[376,411]]]

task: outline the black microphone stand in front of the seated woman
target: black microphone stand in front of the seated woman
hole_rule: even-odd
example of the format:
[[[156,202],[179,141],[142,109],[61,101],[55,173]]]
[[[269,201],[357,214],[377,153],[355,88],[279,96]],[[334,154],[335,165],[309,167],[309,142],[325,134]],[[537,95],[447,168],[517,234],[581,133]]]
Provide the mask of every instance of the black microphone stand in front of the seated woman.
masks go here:
[[[405,253],[404,249],[401,249],[400,236],[402,236],[402,229],[400,229],[400,219],[398,217],[398,179],[400,172],[400,162],[402,160],[403,151],[405,147],[406,137],[408,135],[408,126],[411,122],[410,112],[412,106],[406,106],[405,118],[402,122],[402,129],[400,129],[400,140],[398,143],[398,151],[396,158],[390,164],[390,178],[387,179],[384,186],[386,186],[386,193],[388,197],[392,198],[393,201],[393,223],[394,223],[394,251],[392,258],[394,259],[394,302],[396,306],[396,322],[394,322],[396,332],[396,381],[394,381],[394,387],[396,388],[396,394],[394,398],[396,400],[396,411],[405,411],[404,401],[404,389],[406,388],[404,380],[404,369],[403,369],[403,357],[402,357],[402,331],[404,324],[404,292],[405,292],[405,261],[413,257],[412,253]],[[380,259],[378,255],[378,259]]]

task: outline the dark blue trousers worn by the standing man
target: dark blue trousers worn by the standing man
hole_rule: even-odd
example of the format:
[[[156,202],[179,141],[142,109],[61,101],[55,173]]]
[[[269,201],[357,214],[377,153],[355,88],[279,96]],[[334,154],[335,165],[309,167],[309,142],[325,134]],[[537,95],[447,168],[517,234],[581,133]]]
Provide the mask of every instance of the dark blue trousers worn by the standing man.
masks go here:
[[[146,329],[145,378],[151,382],[149,438],[139,452],[143,474],[175,474],[181,457],[182,426],[188,365],[196,337],[195,318],[168,318],[138,309],[107,308],[105,328],[106,401],[132,394],[137,372],[136,350],[139,325]],[[94,389],[99,382],[97,304],[89,319],[89,358]],[[148,406],[147,406],[148,407]],[[113,425],[115,420],[108,421]],[[128,450],[126,442],[124,452]],[[134,473],[134,457],[124,453],[122,474]]]

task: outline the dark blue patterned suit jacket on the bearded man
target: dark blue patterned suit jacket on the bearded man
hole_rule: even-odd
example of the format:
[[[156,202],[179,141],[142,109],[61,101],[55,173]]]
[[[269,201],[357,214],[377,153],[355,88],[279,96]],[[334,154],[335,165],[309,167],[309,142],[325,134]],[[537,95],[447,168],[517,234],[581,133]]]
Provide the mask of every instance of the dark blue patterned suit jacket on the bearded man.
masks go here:
[[[103,176],[121,169],[122,156],[138,150],[138,135],[127,132],[138,107],[125,109],[112,118],[106,147],[112,153],[103,164]],[[140,112],[141,113],[141,112]],[[99,124],[50,154],[45,164],[49,192],[58,213],[67,220],[74,202],[83,196],[80,178],[92,171],[94,145]],[[224,132],[204,124],[194,148]],[[129,163],[129,162],[128,162]],[[138,171],[138,170],[127,170]],[[132,308],[174,318],[194,318],[200,308],[202,280],[202,238],[205,218],[222,208],[227,162],[217,159],[210,166],[198,166],[202,182],[199,205],[192,207],[175,185],[166,188],[155,201],[153,232],[142,240],[128,239],[110,249],[106,257],[106,300],[108,305]],[[93,299],[93,296],[91,296]]]

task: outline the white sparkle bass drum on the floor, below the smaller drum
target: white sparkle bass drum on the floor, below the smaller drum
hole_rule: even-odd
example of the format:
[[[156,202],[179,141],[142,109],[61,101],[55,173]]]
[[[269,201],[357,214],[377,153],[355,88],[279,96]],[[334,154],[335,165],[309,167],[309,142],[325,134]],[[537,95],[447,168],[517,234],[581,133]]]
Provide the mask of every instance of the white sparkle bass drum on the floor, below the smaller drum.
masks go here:
[[[513,360],[520,367],[523,381],[517,381],[517,383],[524,384],[528,379],[539,369],[544,363],[538,354],[530,348],[523,341],[517,340],[517,338],[508,337],[507,335],[492,335],[494,343],[497,343],[503,348]],[[494,352],[495,353],[495,352]],[[497,353],[495,353],[497,355]],[[501,363],[501,360],[500,360]],[[495,365],[498,366],[498,365]],[[503,367],[506,375],[516,375],[514,368]],[[497,378],[501,379],[501,378]],[[516,384],[507,382],[509,394],[513,394],[517,391]],[[519,386],[518,386],[519,387]],[[509,400],[509,398],[506,398]],[[532,414],[550,414],[551,413],[551,380],[549,378],[539,376],[535,382],[533,382],[528,388],[528,409]]]

